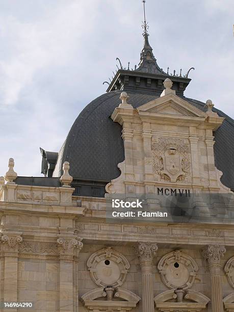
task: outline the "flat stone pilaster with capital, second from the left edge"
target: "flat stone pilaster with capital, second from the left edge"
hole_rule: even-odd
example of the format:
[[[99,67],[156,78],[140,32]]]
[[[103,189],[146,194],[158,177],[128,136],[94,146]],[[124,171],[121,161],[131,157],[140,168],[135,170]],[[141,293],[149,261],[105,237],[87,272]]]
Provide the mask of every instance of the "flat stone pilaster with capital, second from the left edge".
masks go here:
[[[81,239],[72,237],[60,237],[57,240],[59,261],[59,287],[60,301],[59,311],[77,312],[78,306],[75,300],[77,294],[77,279],[74,278],[76,259],[83,247]]]

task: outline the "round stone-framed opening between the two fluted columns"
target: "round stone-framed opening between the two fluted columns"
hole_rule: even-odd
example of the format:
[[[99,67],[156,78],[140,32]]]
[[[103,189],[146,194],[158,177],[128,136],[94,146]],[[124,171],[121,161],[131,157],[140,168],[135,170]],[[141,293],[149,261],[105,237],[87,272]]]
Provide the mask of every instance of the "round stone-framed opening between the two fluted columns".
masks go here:
[[[191,288],[198,266],[194,259],[180,250],[173,250],[160,259],[158,269],[169,289]]]

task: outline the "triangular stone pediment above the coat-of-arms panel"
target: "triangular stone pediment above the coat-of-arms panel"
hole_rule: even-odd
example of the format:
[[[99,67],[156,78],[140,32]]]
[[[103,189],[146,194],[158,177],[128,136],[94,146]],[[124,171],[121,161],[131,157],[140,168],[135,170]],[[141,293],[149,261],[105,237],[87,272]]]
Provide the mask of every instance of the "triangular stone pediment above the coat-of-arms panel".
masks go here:
[[[168,94],[160,98],[156,98],[137,108],[139,114],[154,113],[154,114],[166,114],[177,116],[189,116],[189,117],[202,117],[206,118],[206,113],[192,106],[189,102],[181,99],[174,94]]]

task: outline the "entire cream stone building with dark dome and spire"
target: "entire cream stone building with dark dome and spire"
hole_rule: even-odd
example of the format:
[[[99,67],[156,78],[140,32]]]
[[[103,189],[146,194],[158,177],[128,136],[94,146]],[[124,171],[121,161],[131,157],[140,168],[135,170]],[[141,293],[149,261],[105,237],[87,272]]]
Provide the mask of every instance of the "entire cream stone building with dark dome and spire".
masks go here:
[[[44,177],[0,177],[1,311],[234,311],[234,121],[184,95],[143,26],[139,67],[41,148]]]

